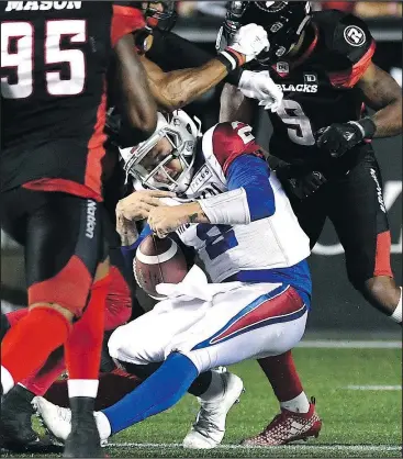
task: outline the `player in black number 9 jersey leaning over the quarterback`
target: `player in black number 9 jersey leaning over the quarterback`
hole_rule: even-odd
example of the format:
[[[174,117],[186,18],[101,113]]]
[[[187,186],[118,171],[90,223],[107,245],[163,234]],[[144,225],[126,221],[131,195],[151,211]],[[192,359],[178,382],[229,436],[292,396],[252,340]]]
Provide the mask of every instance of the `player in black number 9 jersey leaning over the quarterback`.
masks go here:
[[[372,63],[376,43],[366,23],[351,14],[312,13],[305,1],[233,1],[221,41],[231,41],[234,31],[249,22],[265,26],[271,44],[254,61],[254,69],[267,71],[284,93],[280,110],[270,113],[270,155],[280,158],[273,163],[293,194],[302,228],[314,246],[329,217],[346,253],[351,284],[401,324],[402,289],[391,270],[382,179],[371,146],[372,138],[402,133],[399,85]],[[367,107],[374,110],[373,115],[368,115]],[[221,121],[250,123],[254,111],[250,99],[226,86]],[[289,389],[294,381],[295,390],[288,396],[302,389],[291,356],[282,359],[260,361],[279,400],[286,394],[281,394],[278,374],[287,374]],[[307,401],[300,395],[295,396],[300,406],[294,403],[291,411],[300,412],[303,419]],[[270,446],[301,438],[302,432],[291,433],[298,415],[281,406],[281,415],[245,445]]]

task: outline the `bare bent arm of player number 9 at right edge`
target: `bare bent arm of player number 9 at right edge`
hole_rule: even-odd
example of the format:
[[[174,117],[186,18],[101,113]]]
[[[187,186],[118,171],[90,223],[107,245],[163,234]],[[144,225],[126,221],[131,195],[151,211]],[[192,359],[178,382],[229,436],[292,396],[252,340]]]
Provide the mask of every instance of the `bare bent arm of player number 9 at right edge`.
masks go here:
[[[402,134],[402,89],[385,71],[371,64],[357,83],[368,107],[376,110],[374,137]]]

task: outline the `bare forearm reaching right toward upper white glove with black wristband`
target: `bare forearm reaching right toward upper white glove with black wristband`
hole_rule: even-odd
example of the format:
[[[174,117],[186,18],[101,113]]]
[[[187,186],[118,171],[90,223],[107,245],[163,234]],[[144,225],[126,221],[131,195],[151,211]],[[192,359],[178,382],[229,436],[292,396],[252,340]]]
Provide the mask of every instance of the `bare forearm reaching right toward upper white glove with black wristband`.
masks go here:
[[[165,74],[160,81],[152,81],[157,103],[167,111],[180,109],[214,88],[228,74],[219,59],[199,68]]]

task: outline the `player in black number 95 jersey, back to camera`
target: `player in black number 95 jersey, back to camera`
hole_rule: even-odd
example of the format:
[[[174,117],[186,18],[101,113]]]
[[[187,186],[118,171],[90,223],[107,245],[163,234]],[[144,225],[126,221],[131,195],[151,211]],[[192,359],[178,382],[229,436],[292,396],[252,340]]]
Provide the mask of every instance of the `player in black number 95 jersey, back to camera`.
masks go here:
[[[101,176],[113,53],[132,125],[149,134],[157,113],[131,35],[143,15],[66,4],[0,5],[1,227],[24,246],[29,293],[26,316],[1,344],[0,439],[19,434],[18,383],[64,346],[75,419],[65,456],[100,457],[92,411],[109,287]]]

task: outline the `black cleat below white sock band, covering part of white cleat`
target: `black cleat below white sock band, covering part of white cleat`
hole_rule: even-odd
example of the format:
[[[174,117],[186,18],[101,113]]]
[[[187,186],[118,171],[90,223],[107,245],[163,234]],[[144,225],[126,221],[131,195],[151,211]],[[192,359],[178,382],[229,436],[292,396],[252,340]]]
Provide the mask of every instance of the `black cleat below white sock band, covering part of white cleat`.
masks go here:
[[[94,399],[75,396],[70,399],[71,432],[65,443],[65,458],[103,458],[96,419],[93,417]]]

